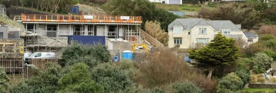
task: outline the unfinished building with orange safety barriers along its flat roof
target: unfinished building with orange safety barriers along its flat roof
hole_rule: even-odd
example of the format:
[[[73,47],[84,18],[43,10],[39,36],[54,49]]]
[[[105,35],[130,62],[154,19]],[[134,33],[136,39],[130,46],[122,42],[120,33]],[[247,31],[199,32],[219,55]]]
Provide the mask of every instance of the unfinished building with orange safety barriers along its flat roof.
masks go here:
[[[141,41],[138,28],[142,17],[138,16],[22,14],[17,17],[17,21],[21,21],[27,30],[21,37],[26,48],[32,52],[66,46],[68,35],[106,36],[137,43]]]

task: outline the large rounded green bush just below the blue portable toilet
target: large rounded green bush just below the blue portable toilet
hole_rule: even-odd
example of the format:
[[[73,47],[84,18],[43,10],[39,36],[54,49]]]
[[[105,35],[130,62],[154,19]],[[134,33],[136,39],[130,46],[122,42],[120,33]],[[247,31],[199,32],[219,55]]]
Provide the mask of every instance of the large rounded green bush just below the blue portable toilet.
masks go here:
[[[104,88],[104,92],[119,92],[128,86],[134,86],[136,70],[129,60],[122,60],[118,64],[104,63],[93,68],[92,78]]]

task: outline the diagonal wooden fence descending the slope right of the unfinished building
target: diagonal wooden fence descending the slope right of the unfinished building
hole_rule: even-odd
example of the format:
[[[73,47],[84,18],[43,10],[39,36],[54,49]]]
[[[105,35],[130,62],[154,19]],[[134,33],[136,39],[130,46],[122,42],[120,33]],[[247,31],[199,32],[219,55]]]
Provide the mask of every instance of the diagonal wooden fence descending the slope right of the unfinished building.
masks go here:
[[[143,31],[141,28],[138,28],[138,29],[141,30],[140,34],[144,38],[144,40],[147,40],[149,43],[151,43],[155,47],[158,47],[158,48],[164,48],[165,47],[160,41],[158,41],[157,39],[155,39],[154,37],[152,37],[150,34],[148,34],[147,32]]]

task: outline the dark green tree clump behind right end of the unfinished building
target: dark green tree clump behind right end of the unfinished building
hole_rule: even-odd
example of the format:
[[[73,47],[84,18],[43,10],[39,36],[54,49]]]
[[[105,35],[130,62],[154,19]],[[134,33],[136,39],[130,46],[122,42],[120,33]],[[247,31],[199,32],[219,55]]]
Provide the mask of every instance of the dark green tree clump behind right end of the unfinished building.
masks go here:
[[[147,20],[156,20],[160,22],[161,28],[167,31],[168,25],[176,18],[180,18],[164,9],[156,9],[155,3],[148,0],[110,0],[101,7],[108,15],[142,16],[142,29]]]

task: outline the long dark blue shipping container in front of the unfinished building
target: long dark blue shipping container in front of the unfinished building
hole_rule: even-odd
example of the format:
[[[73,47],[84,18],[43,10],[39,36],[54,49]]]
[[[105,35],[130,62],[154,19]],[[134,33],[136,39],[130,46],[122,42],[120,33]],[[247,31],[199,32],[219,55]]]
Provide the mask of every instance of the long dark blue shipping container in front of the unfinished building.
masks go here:
[[[69,35],[67,43],[77,41],[78,43],[93,45],[94,43],[106,44],[105,36],[91,36],[91,35]]]

